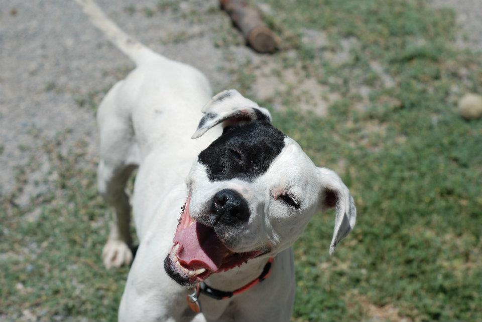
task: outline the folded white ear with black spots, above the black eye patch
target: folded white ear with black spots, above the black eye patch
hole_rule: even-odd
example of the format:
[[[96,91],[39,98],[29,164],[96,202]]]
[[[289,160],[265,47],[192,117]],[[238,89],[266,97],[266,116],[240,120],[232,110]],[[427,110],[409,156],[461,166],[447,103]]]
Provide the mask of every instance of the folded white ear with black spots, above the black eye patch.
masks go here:
[[[206,115],[199,122],[196,132],[192,135],[193,139],[197,139],[221,122],[223,127],[255,121],[271,122],[271,114],[267,109],[259,107],[236,90],[227,90],[215,95],[204,105],[201,112]]]

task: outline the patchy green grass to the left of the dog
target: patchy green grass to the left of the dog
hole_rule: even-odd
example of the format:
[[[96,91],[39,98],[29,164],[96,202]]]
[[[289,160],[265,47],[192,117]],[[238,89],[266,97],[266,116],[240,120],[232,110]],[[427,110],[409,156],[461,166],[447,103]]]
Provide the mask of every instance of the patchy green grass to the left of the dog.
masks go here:
[[[35,170],[32,161],[19,171],[18,188],[2,200],[0,314],[13,320],[25,310],[42,320],[112,320],[121,299],[128,268],[107,271],[100,260],[107,223],[95,186],[95,164],[86,162],[83,142],[59,153],[64,135],[43,144],[55,190],[34,196],[28,209],[15,204],[23,177]],[[39,217],[29,220],[34,209],[40,209]]]

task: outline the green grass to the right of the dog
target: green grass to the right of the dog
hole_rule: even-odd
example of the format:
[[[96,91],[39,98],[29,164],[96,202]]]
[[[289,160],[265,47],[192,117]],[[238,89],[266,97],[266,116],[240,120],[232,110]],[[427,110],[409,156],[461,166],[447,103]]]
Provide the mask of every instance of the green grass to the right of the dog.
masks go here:
[[[413,320],[482,319],[482,123],[462,120],[450,97],[454,85],[480,90],[480,56],[454,48],[453,14],[424,2],[315,3],[272,6],[288,29],[323,29],[334,43],[356,37],[338,68],[298,49],[307,74],[343,98],[324,119],[299,115],[295,104],[274,118],[317,164],[342,172],[358,220],[332,258],[333,216],[316,216],[296,243],[295,318],[366,319],[368,302]],[[368,61],[397,85],[384,88]],[[467,66],[469,80],[457,73]],[[353,108],[359,85],[372,89],[366,111]]]

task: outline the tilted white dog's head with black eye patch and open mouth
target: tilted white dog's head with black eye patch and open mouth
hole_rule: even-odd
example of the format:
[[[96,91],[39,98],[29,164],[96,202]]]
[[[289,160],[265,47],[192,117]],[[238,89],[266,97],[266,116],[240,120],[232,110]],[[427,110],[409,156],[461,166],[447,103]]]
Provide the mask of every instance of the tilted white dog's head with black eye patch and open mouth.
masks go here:
[[[258,256],[290,247],[317,210],[336,208],[330,253],[355,224],[348,189],[331,170],[318,168],[291,138],[271,125],[269,112],[237,91],[219,93],[193,138],[223,123],[189,173],[189,195],[168,274],[183,285]]]

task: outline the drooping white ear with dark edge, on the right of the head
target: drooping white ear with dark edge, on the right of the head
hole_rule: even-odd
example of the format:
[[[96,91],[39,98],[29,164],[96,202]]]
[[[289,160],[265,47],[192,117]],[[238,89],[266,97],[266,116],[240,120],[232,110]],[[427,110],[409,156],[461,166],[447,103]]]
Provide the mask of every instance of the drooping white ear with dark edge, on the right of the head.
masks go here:
[[[348,188],[332,170],[318,168],[321,181],[321,208],[323,211],[335,208],[335,228],[330,244],[330,255],[338,242],[353,229],[356,221],[356,208]]]

